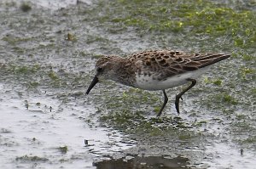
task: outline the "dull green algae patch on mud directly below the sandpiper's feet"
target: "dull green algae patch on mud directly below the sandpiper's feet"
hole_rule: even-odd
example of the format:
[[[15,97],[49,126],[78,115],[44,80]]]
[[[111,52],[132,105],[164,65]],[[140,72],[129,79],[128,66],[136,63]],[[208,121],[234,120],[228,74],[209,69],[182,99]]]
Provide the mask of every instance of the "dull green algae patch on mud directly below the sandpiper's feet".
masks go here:
[[[189,124],[185,124],[180,118],[145,118],[143,112],[120,111],[109,112],[102,115],[100,121],[121,132],[129,133],[131,138],[142,139],[151,137],[168,137],[184,140],[197,137],[195,132],[189,131]],[[186,132],[184,132],[186,131]],[[148,139],[151,139],[148,138]],[[170,138],[170,139],[171,139]]]

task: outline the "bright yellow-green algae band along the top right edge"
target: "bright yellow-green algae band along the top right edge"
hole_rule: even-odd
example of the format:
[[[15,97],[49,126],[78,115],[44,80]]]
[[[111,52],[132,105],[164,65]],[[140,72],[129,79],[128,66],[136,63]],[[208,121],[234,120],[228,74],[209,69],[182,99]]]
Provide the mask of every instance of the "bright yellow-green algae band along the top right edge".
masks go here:
[[[255,14],[212,1],[113,1],[100,3],[100,23],[141,32],[175,32],[188,36],[228,36],[236,47],[255,45]],[[90,11],[94,12],[94,11]],[[253,21],[254,20],[254,21]],[[121,31],[123,29],[120,29]]]

